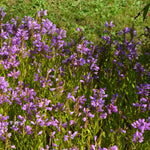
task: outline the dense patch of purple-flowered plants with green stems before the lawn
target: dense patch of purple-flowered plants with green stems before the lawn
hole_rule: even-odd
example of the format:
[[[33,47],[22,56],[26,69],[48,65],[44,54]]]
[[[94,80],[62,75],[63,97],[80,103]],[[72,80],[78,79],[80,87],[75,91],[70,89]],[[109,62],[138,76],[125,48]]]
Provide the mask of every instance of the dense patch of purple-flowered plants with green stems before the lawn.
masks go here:
[[[150,30],[68,40],[41,10],[5,22],[0,9],[1,149],[148,149]],[[144,31],[143,31],[144,32]],[[141,48],[140,51],[139,48]]]

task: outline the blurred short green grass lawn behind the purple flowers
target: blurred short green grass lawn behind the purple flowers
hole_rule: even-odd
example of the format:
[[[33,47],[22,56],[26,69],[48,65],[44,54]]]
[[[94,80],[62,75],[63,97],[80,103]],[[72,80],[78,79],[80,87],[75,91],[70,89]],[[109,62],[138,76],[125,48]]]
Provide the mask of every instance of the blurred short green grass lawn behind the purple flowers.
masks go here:
[[[114,21],[115,31],[131,27],[134,22],[137,34],[149,25],[149,18],[143,22],[142,15],[134,17],[146,5],[147,0],[1,0],[0,6],[7,12],[5,19],[24,16],[36,17],[43,8],[58,28],[67,31],[67,38],[76,38],[76,28],[84,30],[87,40],[98,44],[103,35],[106,21]]]

